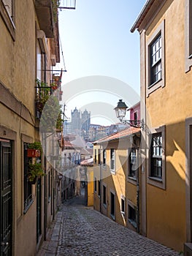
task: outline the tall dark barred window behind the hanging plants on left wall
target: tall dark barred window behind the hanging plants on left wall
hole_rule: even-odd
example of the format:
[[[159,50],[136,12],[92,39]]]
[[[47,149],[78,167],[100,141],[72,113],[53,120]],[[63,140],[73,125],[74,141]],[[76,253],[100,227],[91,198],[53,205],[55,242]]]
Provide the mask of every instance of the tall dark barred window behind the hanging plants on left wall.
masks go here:
[[[27,157],[27,148],[28,148],[28,143],[23,143],[23,167],[24,167],[24,173],[23,173],[23,178],[24,178],[24,213],[28,210],[29,206],[31,206],[32,203],[32,188],[31,184],[28,181],[28,157]]]

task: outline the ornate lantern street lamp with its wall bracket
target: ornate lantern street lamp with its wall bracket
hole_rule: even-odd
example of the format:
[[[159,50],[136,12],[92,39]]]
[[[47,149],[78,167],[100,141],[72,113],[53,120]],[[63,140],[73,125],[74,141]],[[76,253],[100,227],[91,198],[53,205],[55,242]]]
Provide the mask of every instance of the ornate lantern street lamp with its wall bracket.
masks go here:
[[[118,105],[115,109],[115,113],[117,118],[120,120],[122,124],[129,124],[131,127],[137,127],[137,128],[142,128],[145,129],[145,124],[144,120],[124,120],[123,118],[126,116],[126,110],[127,110],[127,105],[125,102],[122,101],[122,99],[119,99]]]

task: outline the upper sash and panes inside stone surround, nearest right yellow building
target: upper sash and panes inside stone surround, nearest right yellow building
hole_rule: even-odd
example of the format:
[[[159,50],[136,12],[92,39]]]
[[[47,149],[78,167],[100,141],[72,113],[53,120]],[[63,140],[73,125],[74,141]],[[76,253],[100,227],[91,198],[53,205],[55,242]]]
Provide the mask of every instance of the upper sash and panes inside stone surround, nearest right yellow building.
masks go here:
[[[150,84],[161,80],[161,34],[150,45]]]

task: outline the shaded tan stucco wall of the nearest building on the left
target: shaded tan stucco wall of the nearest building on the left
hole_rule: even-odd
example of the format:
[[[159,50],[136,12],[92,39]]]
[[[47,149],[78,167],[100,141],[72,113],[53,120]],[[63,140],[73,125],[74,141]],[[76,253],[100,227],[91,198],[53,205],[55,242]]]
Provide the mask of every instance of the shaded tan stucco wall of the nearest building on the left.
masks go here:
[[[0,103],[0,132],[10,129],[15,132],[14,168],[13,168],[13,221],[12,221],[12,254],[21,256],[36,255],[37,250],[37,193],[32,185],[33,203],[26,214],[23,213],[23,142],[26,138],[31,142],[39,139],[39,132],[35,125],[35,89],[36,78],[36,26],[39,29],[34,9],[34,1],[14,1],[15,6],[15,42],[12,40],[2,18],[0,19],[1,37],[0,47],[0,83],[9,91],[7,95],[14,95],[18,105],[9,108],[10,99],[7,97],[7,107]],[[47,63],[50,57],[47,56]],[[2,95],[1,95],[2,97]],[[22,104],[21,104],[22,102]],[[25,108],[25,107],[26,108]],[[15,113],[15,110],[18,113]],[[28,121],[20,116],[28,114]],[[20,115],[20,116],[19,116]],[[1,128],[3,127],[3,128]],[[4,128],[5,127],[5,128]],[[25,139],[23,139],[23,135]],[[43,182],[43,181],[42,181]],[[42,197],[44,193],[42,184]],[[42,233],[44,232],[43,202],[42,203]],[[42,237],[43,238],[43,237]],[[23,242],[24,241],[24,242]]]

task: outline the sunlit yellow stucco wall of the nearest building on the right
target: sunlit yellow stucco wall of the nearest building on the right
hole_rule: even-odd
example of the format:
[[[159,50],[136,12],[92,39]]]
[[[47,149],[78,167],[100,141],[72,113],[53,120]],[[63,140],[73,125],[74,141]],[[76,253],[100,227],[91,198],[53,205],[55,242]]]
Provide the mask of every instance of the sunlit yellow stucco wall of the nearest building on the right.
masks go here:
[[[186,231],[185,118],[192,113],[192,73],[185,73],[185,1],[170,2],[145,32],[147,45],[165,20],[165,87],[153,91],[146,106],[151,127],[166,125],[166,189],[147,184],[147,236],[182,251]]]

